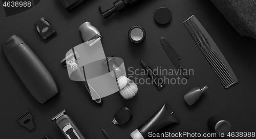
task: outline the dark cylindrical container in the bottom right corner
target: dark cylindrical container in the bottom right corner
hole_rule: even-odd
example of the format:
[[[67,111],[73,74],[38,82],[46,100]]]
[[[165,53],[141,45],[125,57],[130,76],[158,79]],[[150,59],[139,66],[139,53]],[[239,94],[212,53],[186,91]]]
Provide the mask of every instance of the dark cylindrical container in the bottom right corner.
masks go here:
[[[210,130],[215,131],[217,134],[224,133],[225,136],[231,130],[230,123],[219,116],[211,116],[207,121],[207,125]]]

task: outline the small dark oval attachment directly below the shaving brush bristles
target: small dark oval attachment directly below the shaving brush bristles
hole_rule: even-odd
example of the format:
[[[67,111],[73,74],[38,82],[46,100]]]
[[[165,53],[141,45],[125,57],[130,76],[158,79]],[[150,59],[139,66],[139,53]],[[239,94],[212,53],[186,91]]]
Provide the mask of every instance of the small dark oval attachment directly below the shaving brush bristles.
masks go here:
[[[132,118],[133,118],[133,114],[131,110],[127,107],[123,107],[115,113],[114,119],[112,122],[113,124],[122,125],[127,123]]]

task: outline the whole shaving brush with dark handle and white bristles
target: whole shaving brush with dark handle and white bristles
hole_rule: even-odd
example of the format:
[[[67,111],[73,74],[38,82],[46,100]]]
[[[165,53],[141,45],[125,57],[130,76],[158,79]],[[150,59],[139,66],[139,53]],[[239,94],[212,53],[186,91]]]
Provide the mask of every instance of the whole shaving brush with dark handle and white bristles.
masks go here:
[[[107,58],[105,61],[101,63],[102,66],[108,67],[111,76],[117,80],[118,88],[119,88],[119,93],[124,99],[130,99],[133,98],[137,92],[138,92],[138,87],[134,83],[133,80],[127,78],[123,70],[121,70],[116,64],[114,63],[114,56]]]

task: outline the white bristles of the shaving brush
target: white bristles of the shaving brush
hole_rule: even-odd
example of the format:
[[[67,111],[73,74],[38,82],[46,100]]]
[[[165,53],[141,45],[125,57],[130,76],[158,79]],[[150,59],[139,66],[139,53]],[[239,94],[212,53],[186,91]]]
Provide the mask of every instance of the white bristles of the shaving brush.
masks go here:
[[[120,88],[119,92],[124,99],[133,98],[137,94],[138,87],[133,80],[122,76],[117,81]]]

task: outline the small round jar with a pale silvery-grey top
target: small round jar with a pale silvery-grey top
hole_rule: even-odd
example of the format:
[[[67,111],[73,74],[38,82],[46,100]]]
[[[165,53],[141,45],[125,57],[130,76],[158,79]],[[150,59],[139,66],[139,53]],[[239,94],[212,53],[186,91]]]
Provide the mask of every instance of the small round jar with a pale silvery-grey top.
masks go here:
[[[146,32],[141,26],[133,26],[128,32],[128,38],[131,42],[141,43],[146,37]]]

